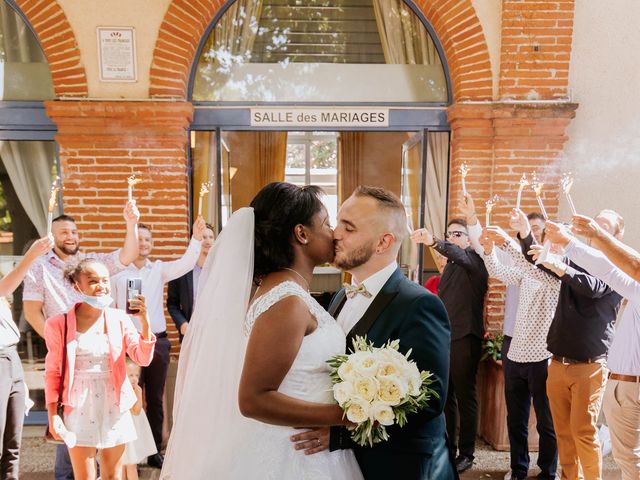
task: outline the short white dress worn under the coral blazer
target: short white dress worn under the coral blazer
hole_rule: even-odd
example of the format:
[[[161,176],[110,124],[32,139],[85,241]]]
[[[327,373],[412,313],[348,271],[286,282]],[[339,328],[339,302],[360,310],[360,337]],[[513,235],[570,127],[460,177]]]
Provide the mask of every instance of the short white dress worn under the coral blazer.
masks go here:
[[[103,321],[84,333],[76,332],[76,360],[67,430],[79,447],[111,448],[137,438],[131,412],[121,412],[111,383],[109,340]]]

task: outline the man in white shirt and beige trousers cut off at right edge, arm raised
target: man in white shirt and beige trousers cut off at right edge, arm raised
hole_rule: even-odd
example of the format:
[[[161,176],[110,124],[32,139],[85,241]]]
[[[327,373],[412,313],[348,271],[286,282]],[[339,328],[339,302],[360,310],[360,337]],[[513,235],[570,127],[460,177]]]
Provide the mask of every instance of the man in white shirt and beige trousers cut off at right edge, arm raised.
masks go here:
[[[581,217],[579,231],[593,225],[596,235],[604,230],[591,219]],[[603,409],[611,432],[613,457],[624,480],[640,478],[640,283],[624,273],[599,250],[571,237],[559,225],[547,222],[548,238],[565,247],[565,255],[594,277],[609,285],[628,301],[619,316],[607,355],[609,379]],[[625,247],[627,254],[633,254]],[[640,254],[635,252],[636,258]],[[628,268],[628,264],[624,264]]]

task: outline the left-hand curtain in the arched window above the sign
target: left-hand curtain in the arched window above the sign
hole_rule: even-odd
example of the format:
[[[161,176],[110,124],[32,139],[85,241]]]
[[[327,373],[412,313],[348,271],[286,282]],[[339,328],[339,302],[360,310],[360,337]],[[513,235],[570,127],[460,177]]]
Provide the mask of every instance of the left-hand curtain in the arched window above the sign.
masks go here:
[[[223,71],[249,61],[261,13],[262,0],[236,1],[215,26],[205,46],[205,56],[217,60]]]

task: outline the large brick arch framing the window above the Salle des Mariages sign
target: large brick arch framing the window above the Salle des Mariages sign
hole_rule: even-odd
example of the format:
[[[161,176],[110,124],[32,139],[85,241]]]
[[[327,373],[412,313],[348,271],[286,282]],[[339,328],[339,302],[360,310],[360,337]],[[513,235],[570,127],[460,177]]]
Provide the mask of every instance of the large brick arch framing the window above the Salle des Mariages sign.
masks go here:
[[[415,3],[442,42],[454,101],[490,100],[493,79],[489,51],[471,0]],[[186,99],[198,44],[223,4],[222,0],[171,2],[153,52],[151,98]]]

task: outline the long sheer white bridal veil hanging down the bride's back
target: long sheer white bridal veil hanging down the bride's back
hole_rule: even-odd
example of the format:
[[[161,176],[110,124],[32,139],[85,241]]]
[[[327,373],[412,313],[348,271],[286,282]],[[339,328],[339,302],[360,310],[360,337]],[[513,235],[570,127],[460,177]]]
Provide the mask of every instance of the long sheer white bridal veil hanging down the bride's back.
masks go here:
[[[216,240],[200,276],[182,343],[173,428],[162,479],[225,478],[250,420],[238,385],[246,349],[244,320],[253,281],[254,213],[242,208]]]

